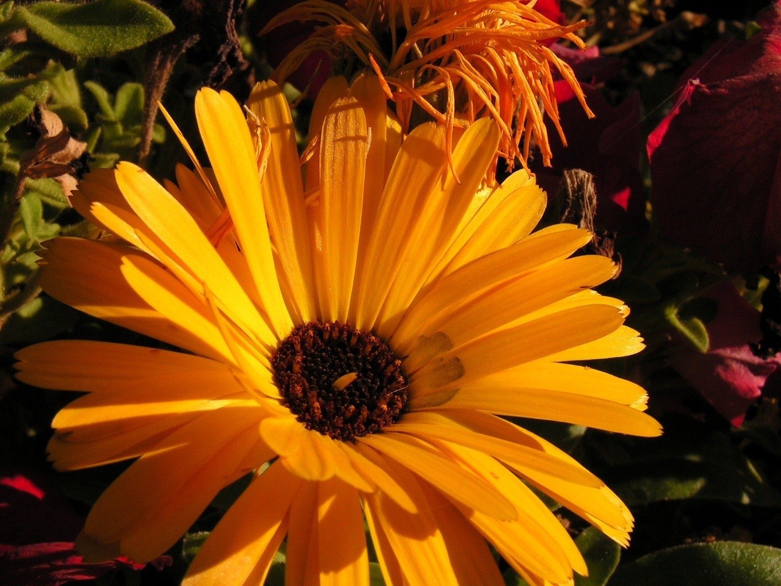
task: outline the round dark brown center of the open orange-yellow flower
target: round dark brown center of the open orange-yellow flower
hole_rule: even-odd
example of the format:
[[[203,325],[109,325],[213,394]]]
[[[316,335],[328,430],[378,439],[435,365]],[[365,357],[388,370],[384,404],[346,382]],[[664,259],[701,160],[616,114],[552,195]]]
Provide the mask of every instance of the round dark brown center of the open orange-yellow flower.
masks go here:
[[[407,402],[401,360],[348,323],[296,326],[271,357],[285,405],[307,429],[348,441],[394,423]]]

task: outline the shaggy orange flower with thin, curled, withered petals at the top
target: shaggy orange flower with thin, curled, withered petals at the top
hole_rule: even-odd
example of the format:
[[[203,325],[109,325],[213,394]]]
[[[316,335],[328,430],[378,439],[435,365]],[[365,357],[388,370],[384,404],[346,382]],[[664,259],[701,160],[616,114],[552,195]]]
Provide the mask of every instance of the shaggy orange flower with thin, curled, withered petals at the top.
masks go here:
[[[395,102],[405,132],[429,118],[446,125],[450,143],[454,127],[492,116],[501,130],[497,156],[510,169],[516,159],[526,168],[533,144],[544,164],[551,164],[545,116],[565,142],[554,72],[594,116],[571,67],[547,47],[565,38],[583,48],[573,33],[585,21],[563,26],[537,12],[533,2],[352,0],[342,6],[309,0],[276,16],[262,33],[296,20],[323,26],[287,55],[275,80],[287,79],[313,52],[329,53],[340,73],[349,74],[356,64],[371,68]]]

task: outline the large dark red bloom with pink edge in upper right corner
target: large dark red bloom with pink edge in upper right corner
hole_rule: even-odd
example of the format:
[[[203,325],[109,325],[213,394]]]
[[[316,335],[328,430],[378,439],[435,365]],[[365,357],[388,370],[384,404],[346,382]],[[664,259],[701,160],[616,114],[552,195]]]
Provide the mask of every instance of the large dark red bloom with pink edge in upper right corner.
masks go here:
[[[757,22],[684,73],[647,145],[662,233],[747,274],[781,255],[781,2]]]

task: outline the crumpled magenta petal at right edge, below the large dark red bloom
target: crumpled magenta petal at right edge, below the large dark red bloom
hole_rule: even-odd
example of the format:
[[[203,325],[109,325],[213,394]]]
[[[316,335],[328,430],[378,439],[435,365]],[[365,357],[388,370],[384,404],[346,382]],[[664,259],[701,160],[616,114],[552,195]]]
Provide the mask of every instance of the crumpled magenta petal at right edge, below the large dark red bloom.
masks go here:
[[[738,426],[779,365],[751,352],[749,345],[762,337],[759,312],[732,284],[719,285],[704,297],[719,302],[718,315],[707,325],[711,348],[701,354],[687,347],[675,361],[676,370],[719,413]]]

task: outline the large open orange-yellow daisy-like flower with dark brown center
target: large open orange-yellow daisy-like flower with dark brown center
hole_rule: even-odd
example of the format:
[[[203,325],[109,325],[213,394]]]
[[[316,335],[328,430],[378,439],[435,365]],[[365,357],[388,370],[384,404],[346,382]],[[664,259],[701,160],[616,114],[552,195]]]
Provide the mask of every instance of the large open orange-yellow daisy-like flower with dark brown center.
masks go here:
[[[85,559],[158,556],[248,473],[187,586],[262,584],[286,536],[287,584],[369,584],[364,520],[387,584],[504,584],[489,542],[530,584],[571,584],[587,568],[532,487],[626,544],[626,506],[500,417],[659,433],[641,388],[568,364],[642,344],[590,290],[611,261],[569,258],[590,234],[531,234],[545,195],[524,171],[484,187],[497,124],[456,135],[459,183],[444,127],[402,137],[379,79],[332,78],[304,183],[280,88],[247,106],[200,91],[212,169],[165,187],[96,170],[73,205],[118,238],[45,251],[49,295],[186,351],[16,355],[20,380],[89,393],[54,420],[55,466],[137,458],[91,510]]]

